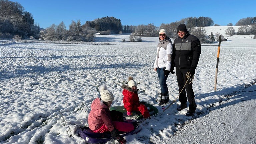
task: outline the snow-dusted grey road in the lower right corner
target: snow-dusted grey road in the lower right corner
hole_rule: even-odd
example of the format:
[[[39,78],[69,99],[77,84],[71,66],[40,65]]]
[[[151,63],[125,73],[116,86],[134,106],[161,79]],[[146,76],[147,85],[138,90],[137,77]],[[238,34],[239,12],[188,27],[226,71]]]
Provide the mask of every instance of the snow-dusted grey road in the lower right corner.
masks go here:
[[[184,124],[166,143],[255,144],[256,85]],[[162,142],[156,142],[162,143]]]

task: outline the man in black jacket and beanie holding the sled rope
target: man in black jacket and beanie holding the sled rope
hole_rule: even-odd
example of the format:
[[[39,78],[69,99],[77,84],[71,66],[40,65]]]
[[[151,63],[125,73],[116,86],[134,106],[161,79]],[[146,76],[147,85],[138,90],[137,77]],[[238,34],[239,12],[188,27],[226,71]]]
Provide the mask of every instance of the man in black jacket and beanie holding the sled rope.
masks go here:
[[[178,38],[173,43],[173,60],[176,66],[176,76],[180,92],[181,105],[177,108],[181,111],[187,108],[187,100],[189,102],[189,111],[186,116],[192,116],[196,110],[195,95],[192,83],[186,83],[186,74],[189,72],[191,77],[195,74],[199,57],[201,54],[201,44],[199,39],[189,34],[185,24],[180,24],[177,28]],[[185,85],[185,89],[182,88]],[[182,92],[181,92],[182,90]],[[187,97],[186,97],[187,92]]]

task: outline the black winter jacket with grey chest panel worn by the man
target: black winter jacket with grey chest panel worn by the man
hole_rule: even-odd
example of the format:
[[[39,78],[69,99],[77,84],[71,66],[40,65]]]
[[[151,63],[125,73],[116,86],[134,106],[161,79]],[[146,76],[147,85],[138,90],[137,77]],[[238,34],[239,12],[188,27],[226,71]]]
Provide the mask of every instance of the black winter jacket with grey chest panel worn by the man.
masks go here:
[[[187,33],[183,38],[176,38],[173,43],[173,60],[175,66],[180,69],[197,67],[201,54],[199,39]]]

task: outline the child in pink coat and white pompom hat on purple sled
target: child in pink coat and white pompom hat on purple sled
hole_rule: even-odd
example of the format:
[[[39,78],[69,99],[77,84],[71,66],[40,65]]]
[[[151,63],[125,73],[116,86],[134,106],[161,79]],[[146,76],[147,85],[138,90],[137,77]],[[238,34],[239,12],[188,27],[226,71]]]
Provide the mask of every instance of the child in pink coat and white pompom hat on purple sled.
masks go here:
[[[123,115],[117,115],[117,111],[110,112],[110,105],[114,100],[113,94],[107,90],[105,85],[99,87],[100,98],[93,100],[91,111],[88,117],[89,128],[95,133],[111,132],[111,136],[116,138],[120,144],[125,144],[126,140],[121,137],[118,131],[130,132],[135,126],[122,121]],[[113,117],[121,118],[121,121],[114,121]]]

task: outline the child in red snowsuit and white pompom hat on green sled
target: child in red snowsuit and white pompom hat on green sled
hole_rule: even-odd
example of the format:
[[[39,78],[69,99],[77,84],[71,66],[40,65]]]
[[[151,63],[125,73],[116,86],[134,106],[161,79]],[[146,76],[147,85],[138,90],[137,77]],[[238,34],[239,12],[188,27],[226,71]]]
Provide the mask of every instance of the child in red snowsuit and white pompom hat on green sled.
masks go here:
[[[139,111],[144,118],[150,116],[147,107],[140,103],[138,96],[137,84],[133,80],[133,77],[128,78],[128,85],[122,85],[123,88],[123,103],[124,108],[127,111],[127,115],[130,116],[132,111]]]

